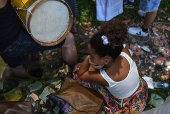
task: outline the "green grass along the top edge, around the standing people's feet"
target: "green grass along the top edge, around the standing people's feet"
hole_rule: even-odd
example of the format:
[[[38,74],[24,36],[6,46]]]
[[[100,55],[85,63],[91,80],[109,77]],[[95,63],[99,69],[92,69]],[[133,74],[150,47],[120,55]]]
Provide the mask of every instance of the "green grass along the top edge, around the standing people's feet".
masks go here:
[[[158,14],[155,21],[159,19],[167,19],[170,16],[170,6],[168,5],[169,0],[162,0],[158,9]],[[133,9],[123,9],[123,13],[115,17],[115,19],[123,21],[126,19],[135,19],[135,22],[138,23],[143,20],[138,15],[140,0],[135,0]],[[78,26],[84,27],[84,22],[91,22],[92,25],[101,25],[103,22],[99,22],[96,19],[96,0],[77,0],[77,5],[79,9],[79,16],[77,20],[79,21]]]

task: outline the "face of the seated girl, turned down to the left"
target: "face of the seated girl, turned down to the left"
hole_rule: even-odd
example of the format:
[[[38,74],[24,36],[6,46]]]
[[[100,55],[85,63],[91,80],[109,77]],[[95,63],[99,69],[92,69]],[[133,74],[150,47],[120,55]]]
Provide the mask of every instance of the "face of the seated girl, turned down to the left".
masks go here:
[[[88,50],[90,53],[90,59],[93,63],[95,63],[96,65],[104,65],[104,60],[94,52],[94,49],[92,49],[91,44],[88,44]]]

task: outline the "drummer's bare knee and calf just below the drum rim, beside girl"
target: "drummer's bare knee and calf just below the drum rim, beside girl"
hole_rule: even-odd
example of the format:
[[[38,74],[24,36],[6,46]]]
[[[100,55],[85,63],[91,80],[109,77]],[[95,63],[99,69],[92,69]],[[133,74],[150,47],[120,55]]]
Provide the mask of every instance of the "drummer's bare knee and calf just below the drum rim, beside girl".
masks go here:
[[[71,69],[77,63],[77,49],[75,46],[74,36],[69,33],[66,37],[65,43],[62,46],[62,57],[66,63],[68,63]]]

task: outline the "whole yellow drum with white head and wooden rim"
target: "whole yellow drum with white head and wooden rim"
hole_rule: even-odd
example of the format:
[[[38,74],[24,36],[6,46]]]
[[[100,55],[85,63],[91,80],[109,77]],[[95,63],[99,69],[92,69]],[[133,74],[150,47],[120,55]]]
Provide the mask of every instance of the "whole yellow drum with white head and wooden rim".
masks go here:
[[[73,14],[63,0],[12,0],[12,6],[32,38],[43,46],[63,41],[73,24]]]

